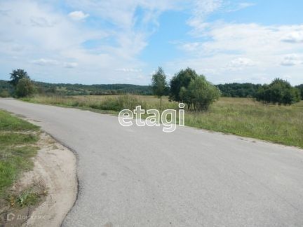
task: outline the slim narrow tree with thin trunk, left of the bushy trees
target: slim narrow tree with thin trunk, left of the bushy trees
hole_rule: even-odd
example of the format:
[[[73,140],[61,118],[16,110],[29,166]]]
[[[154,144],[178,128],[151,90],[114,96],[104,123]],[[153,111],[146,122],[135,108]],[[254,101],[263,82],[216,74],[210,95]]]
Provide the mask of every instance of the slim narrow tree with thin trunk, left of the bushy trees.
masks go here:
[[[154,95],[160,98],[160,106],[162,107],[162,96],[166,94],[168,83],[166,82],[166,74],[161,67],[152,75],[152,91]]]

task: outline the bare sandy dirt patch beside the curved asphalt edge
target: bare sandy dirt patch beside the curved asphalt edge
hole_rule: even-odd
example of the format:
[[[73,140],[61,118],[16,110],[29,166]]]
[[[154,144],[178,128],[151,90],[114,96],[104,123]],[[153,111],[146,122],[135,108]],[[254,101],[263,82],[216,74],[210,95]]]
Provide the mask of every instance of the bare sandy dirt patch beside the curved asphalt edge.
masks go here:
[[[15,191],[37,185],[46,195],[37,207],[13,209],[5,226],[61,226],[77,193],[76,158],[72,151],[42,132],[34,169],[13,186]]]

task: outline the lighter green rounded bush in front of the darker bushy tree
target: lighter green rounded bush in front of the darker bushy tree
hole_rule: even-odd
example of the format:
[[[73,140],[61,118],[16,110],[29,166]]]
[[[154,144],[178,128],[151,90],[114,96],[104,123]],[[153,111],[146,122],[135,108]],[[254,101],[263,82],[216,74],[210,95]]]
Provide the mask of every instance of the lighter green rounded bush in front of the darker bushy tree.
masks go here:
[[[205,76],[196,76],[188,85],[182,87],[180,98],[185,102],[189,109],[206,111],[210,104],[219,99],[220,90],[210,82],[206,81]]]

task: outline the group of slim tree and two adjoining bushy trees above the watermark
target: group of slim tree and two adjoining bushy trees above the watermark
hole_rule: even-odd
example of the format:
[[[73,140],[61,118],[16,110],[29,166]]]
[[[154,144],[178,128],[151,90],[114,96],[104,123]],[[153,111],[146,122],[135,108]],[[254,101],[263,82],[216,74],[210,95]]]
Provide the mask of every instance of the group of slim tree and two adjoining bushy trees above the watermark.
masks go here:
[[[205,111],[210,104],[220,97],[220,90],[206,80],[203,75],[198,75],[194,69],[182,69],[168,82],[166,74],[161,67],[152,76],[152,90],[154,95],[162,100],[162,96],[169,91],[169,99],[184,102],[188,109]],[[160,101],[160,105],[162,102]]]

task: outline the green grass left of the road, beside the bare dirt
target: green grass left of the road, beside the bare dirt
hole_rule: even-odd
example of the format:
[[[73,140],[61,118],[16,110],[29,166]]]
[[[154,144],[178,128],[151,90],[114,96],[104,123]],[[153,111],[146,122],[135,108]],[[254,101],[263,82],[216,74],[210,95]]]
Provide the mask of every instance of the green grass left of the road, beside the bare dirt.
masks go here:
[[[27,197],[27,201],[38,199],[36,195],[31,195],[30,199],[28,196],[22,196],[22,193],[11,195],[8,190],[22,172],[32,170],[34,166],[32,157],[38,151],[38,147],[35,146],[38,139],[38,126],[11,116],[6,111],[0,111],[0,200],[10,200],[9,198],[12,196]],[[33,196],[36,197],[36,200],[32,199]],[[17,202],[15,204],[20,204],[22,207],[27,203]]]

